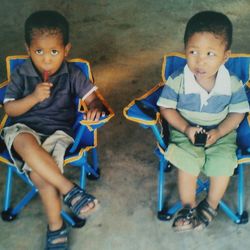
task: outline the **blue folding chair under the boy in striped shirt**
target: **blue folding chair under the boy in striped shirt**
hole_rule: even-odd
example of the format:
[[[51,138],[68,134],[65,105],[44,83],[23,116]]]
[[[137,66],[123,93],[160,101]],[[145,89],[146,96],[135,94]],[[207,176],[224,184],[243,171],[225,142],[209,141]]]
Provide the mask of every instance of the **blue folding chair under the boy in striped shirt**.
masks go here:
[[[250,100],[249,82],[249,62],[250,54],[232,54],[226,63],[229,71],[236,74],[242,80],[247,91],[248,100]],[[171,170],[171,164],[164,158],[164,152],[168,145],[168,129],[167,122],[162,120],[159,108],[156,103],[161,94],[164,83],[168,77],[179,68],[183,68],[186,64],[185,55],[181,53],[169,53],[164,56],[162,65],[162,82],[154,88],[146,92],[142,97],[136,98],[123,110],[124,116],[133,122],[139,123],[143,128],[150,128],[156,138],[157,148],[155,153],[159,158],[158,168],[158,218],[160,220],[170,220],[173,215],[182,207],[181,202],[177,202],[172,207],[166,207],[166,197],[164,196],[165,173]],[[238,167],[236,174],[238,175],[238,205],[237,211],[231,209],[225,202],[220,201],[220,208],[235,223],[247,223],[248,213],[244,211],[244,166],[250,163],[250,115],[248,114],[240,124],[237,130],[237,156]],[[196,193],[207,191],[209,189],[209,181],[197,181]]]

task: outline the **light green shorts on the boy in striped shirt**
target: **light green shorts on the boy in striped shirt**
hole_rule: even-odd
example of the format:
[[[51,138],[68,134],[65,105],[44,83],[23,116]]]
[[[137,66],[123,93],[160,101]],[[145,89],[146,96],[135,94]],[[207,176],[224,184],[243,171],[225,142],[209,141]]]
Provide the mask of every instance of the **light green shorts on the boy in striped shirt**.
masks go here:
[[[194,146],[182,133],[172,129],[165,158],[177,168],[198,176],[232,176],[237,167],[236,132],[220,138],[208,148]]]

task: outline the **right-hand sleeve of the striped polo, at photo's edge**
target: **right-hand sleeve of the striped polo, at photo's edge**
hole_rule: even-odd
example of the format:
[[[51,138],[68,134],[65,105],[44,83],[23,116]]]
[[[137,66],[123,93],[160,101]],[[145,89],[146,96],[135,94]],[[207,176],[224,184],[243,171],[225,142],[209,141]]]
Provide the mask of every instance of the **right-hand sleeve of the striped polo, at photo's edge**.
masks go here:
[[[249,103],[246,90],[241,81],[236,77],[231,79],[232,96],[229,104],[230,113],[246,113],[249,112]]]

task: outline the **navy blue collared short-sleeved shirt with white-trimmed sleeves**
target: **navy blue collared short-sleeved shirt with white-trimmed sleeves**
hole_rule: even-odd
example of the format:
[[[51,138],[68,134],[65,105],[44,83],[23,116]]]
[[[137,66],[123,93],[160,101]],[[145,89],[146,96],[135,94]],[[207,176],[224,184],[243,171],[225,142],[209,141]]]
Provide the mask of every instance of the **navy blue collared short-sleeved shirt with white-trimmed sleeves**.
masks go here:
[[[5,100],[18,100],[31,94],[37,84],[43,82],[30,59],[25,61],[11,75]],[[49,77],[53,83],[48,99],[36,104],[26,113],[11,118],[11,124],[23,123],[38,133],[51,135],[63,130],[73,136],[76,116],[76,97],[84,98],[96,87],[73,63],[63,62],[56,74]]]

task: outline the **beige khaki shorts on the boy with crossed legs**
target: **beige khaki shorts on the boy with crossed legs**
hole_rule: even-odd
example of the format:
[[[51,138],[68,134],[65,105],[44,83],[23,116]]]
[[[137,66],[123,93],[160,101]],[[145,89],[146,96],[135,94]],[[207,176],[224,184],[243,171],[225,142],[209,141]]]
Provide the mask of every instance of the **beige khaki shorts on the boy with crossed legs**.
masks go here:
[[[61,172],[63,173],[65,151],[67,147],[74,142],[71,136],[69,136],[62,130],[57,130],[52,135],[45,136],[43,134],[35,132],[33,129],[21,123],[17,123],[10,127],[4,128],[1,132],[1,136],[4,139],[10,157],[18,170],[24,172],[31,171],[31,168],[25,162],[23,162],[21,157],[17,155],[12,147],[16,136],[21,133],[32,134],[36,138],[38,144],[41,145],[49,154],[51,154]]]

